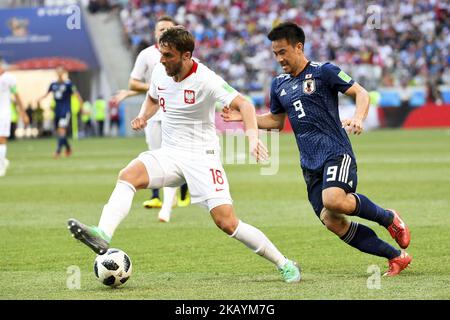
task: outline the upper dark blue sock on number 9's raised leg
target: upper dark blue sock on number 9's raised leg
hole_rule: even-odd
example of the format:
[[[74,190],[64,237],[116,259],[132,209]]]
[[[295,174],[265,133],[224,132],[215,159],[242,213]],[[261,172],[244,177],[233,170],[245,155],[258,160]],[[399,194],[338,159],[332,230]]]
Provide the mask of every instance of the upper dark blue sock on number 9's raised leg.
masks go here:
[[[365,195],[353,193],[356,199],[356,209],[353,215],[363,219],[374,221],[387,228],[394,220],[394,214],[386,209],[377,206]]]

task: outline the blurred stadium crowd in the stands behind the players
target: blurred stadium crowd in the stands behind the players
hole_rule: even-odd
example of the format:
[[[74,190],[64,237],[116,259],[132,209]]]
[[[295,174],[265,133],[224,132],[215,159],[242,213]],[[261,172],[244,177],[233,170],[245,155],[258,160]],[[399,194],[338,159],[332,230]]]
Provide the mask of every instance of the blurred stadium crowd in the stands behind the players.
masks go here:
[[[171,15],[194,33],[199,44],[195,55],[239,90],[259,90],[280,71],[266,34],[283,20],[303,26],[307,56],[353,66],[354,78],[369,89],[450,84],[450,4],[445,1],[113,0],[110,4],[121,6],[124,32],[136,52],[152,43],[157,17]]]

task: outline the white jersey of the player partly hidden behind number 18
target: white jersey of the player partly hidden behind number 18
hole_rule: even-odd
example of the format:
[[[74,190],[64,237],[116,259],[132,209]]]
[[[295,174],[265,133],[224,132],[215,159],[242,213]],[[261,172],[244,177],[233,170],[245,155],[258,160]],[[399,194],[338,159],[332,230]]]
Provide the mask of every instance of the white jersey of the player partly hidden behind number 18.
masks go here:
[[[142,50],[136,58],[134,68],[131,71],[130,77],[136,80],[150,83],[152,72],[155,66],[161,59],[161,52],[155,45],[150,46]],[[152,121],[161,121],[161,112],[158,111],[152,119]]]

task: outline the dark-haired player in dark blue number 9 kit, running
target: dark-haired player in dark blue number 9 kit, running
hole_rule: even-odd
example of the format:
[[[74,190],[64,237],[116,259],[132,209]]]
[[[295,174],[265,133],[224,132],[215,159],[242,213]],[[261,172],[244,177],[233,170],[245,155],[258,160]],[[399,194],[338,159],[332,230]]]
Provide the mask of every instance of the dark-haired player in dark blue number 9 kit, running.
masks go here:
[[[369,108],[367,91],[339,67],[309,61],[303,52],[305,34],[291,22],[268,34],[284,74],[272,81],[270,112],[258,116],[260,129],[282,129],[286,115],[297,140],[308,199],[319,219],[352,247],[389,260],[387,276],[395,276],[411,262],[406,251],[377,237],[369,227],[352,222],[358,216],[384,226],[402,249],[410,232],[399,214],[383,209],[356,193],[357,166],[348,133],[360,134]],[[352,118],[340,120],[338,92],[356,101]],[[224,108],[225,121],[240,120],[237,111]]]

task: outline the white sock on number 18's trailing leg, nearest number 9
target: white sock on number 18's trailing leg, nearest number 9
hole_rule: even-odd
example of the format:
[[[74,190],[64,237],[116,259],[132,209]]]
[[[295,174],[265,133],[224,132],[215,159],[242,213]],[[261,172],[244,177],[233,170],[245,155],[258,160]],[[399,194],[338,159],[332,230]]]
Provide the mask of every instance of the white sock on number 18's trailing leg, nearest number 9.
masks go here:
[[[275,247],[261,230],[239,220],[239,224],[230,236],[241,241],[256,254],[266,258],[281,268],[287,262],[286,257]]]

